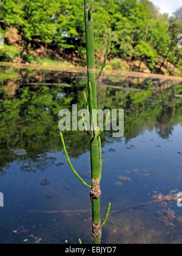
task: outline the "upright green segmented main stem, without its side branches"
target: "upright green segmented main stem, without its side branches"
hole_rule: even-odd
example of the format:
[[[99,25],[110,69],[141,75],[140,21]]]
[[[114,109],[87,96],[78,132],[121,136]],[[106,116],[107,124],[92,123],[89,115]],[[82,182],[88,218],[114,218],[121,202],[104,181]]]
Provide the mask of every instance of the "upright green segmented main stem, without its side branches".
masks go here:
[[[92,116],[92,109],[97,110],[97,97],[96,97],[96,71],[95,71],[95,46],[93,37],[93,0],[84,0],[84,15],[85,15],[85,27],[86,27],[86,52],[87,52],[87,76],[89,87],[89,111]],[[91,119],[90,125],[97,127],[96,120]],[[91,176],[92,187],[95,184],[95,180],[99,183],[99,151],[98,151],[98,138],[95,137],[93,132],[90,133],[90,164],[91,164]],[[99,184],[98,184],[99,185]],[[100,201],[98,199],[92,200],[92,222],[99,224],[101,221],[100,216]],[[100,244],[101,237],[93,236],[93,244]]]

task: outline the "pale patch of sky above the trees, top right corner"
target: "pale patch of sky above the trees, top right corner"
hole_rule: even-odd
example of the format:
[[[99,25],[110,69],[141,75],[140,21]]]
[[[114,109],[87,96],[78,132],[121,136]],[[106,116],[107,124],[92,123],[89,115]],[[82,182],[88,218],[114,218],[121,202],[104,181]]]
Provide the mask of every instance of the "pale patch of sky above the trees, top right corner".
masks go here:
[[[175,12],[178,8],[182,7],[181,0],[150,0],[157,7],[160,7],[161,13],[167,12],[169,15]]]

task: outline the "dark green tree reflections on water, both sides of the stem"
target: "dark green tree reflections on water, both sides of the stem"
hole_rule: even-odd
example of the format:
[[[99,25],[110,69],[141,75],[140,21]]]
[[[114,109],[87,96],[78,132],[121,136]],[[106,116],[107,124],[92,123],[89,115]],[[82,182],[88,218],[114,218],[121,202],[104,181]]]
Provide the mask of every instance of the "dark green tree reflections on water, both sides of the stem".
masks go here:
[[[42,76],[41,74],[41,78]],[[0,90],[1,169],[15,159],[12,149],[25,149],[27,155],[23,157],[32,160],[35,160],[39,154],[61,151],[58,130],[59,110],[61,108],[71,110],[72,104],[76,103],[78,109],[85,107],[82,94],[85,83],[75,80],[74,77],[72,77],[72,87],[36,84],[25,86],[25,81],[31,81],[32,74],[23,73],[23,77],[25,80],[11,77],[19,86],[14,96],[8,96],[2,90],[10,82],[9,79],[2,82],[4,87]],[[51,74],[51,79],[55,82],[56,77]],[[47,82],[46,79],[44,81]],[[167,138],[174,124],[179,123],[182,116],[181,99],[174,97],[174,94],[180,93],[180,87],[161,90],[159,93],[153,93],[151,86],[141,91],[98,87],[98,102],[99,108],[103,109],[124,108],[126,141],[146,129],[154,128],[162,138]],[[111,137],[112,133],[107,132],[104,135]],[[104,135],[102,140],[106,143]],[[89,151],[89,140],[84,132],[66,132],[65,138],[70,157],[77,158]]]

